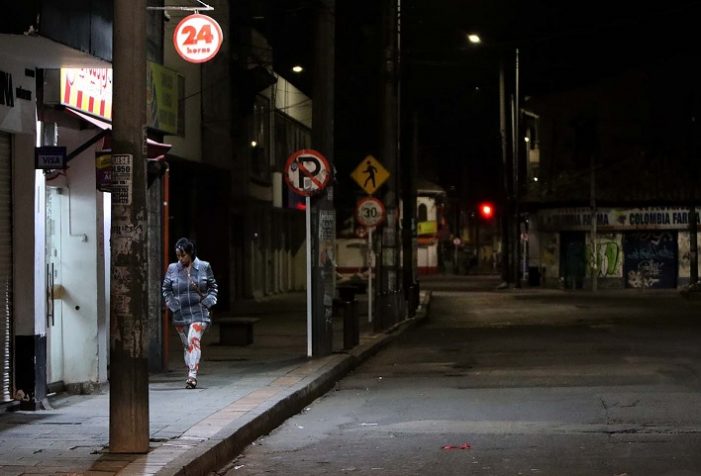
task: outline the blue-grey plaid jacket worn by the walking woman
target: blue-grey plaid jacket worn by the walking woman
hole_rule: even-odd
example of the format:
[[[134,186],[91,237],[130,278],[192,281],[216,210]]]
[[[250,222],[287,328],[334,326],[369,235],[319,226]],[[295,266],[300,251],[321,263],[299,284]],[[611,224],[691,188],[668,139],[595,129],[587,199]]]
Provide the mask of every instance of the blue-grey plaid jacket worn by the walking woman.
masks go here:
[[[189,277],[187,269],[179,261],[169,264],[161,291],[166,306],[173,312],[173,324],[212,322],[209,308],[217,303],[219,290],[209,262],[195,258]]]

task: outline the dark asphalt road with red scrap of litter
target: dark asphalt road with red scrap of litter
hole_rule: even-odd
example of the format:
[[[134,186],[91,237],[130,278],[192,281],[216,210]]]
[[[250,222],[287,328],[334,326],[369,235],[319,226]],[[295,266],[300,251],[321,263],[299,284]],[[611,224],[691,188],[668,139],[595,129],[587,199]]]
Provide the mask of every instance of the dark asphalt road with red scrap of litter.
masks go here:
[[[218,474],[701,475],[701,297],[422,281],[430,317]]]

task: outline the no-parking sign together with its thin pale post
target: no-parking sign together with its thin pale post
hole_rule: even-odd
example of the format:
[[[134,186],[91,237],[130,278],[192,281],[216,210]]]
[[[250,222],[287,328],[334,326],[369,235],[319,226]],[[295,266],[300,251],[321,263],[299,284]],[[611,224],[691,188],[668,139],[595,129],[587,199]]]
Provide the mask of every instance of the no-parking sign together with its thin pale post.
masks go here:
[[[312,356],[312,203],[311,196],[320,193],[331,180],[331,166],[321,152],[301,149],[285,163],[284,177],[291,191],[306,197],[307,231],[307,356]]]

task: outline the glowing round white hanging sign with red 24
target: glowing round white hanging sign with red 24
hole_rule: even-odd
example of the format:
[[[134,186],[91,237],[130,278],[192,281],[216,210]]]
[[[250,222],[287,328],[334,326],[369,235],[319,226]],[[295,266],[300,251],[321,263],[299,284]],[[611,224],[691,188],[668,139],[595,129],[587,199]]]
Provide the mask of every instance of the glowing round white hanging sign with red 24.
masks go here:
[[[173,32],[175,51],[190,63],[205,63],[214,58],[223,40],[219,23],[199,13],[180,20]]]

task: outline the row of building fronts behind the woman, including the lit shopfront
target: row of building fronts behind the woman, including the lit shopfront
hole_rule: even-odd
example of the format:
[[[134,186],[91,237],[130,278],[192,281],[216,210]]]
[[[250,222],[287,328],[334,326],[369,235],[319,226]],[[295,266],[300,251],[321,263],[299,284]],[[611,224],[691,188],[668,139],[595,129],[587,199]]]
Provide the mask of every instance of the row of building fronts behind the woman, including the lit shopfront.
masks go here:
[[[207,64],[175,54],[178,17],[144,12],[151,370],[167,365],[160,281],[180,236],[212,262],[223,312],[306,282],[304,213],[281,172],[309,147],[311,101],[215,6],[225,40]],[[35,2],[0,22],[0,404],[38,409],[108,380],[112,8]]]

